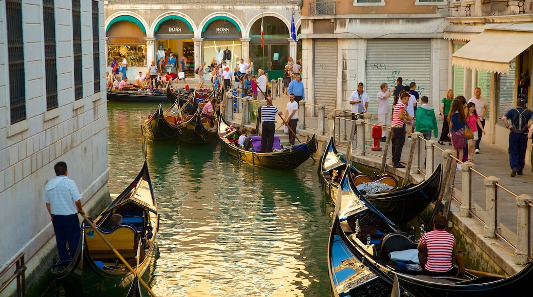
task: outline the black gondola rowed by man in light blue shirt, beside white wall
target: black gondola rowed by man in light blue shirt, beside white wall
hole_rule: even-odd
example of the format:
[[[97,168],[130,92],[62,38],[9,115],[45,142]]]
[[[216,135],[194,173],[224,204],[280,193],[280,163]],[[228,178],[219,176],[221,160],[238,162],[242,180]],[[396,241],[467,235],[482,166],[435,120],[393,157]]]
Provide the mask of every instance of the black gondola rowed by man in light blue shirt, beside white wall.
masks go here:
[[[111,229],[109,219],[114,214],[123,216],[123,225]],[[136,274],[128,270],[93,227],[84,222],[74,258],[54,264],[52,275],[67,296],[124,296],[135,275],[142,276],[156,257],[159,213],[146,160],[139,175],[100,213],[94,224]],[[138,248],[142,256],[136,265]]]

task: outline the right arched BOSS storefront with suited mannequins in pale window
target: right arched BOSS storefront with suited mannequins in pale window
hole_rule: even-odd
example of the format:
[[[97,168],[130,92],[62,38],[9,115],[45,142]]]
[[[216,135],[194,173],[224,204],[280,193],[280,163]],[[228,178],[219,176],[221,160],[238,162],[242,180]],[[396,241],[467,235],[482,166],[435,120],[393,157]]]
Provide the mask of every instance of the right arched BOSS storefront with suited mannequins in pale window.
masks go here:
[[[217,64],[225,60],[230,71],[233,71],[240,59],[245,58],[240,40],[241,29],[234,20],[227,16],[216,16],[209,20],[204,26],[202,37],[204,39],[203,61],[207,65],[211,64],[213,59]]]

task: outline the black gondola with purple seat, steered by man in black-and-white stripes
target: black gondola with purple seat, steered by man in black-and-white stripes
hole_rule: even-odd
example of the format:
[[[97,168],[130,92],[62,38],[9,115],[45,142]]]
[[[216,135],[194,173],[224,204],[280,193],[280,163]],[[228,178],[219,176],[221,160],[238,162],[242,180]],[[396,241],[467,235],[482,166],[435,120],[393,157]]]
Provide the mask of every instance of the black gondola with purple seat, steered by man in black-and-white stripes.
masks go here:
[[[222,150],[234,158],[257,167],[292,170],[309,159],[318,149],[316,135],[313,135],[306,143],[281,148],[272,153],[246,151],[233,143],[231,136],[235,133],[237,133],[237,129],[231,127],[221,116],[218,135],[222,143]]]

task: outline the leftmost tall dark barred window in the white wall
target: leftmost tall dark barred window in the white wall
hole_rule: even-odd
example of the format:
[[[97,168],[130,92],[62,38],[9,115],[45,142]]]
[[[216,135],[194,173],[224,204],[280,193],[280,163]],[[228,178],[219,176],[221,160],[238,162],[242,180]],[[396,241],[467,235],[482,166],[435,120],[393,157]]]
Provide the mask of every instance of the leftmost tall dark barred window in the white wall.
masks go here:
[[[7,55],[9,62],[9,108],[11,123],[26,119],[26,76],[22,37],[22,1],[6,0]]]

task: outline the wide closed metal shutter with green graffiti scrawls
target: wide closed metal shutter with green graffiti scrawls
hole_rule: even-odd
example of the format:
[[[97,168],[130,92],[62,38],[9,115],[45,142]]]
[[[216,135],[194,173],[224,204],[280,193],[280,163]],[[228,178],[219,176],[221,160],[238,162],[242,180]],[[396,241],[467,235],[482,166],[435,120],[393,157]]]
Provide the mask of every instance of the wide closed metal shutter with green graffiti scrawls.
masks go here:
[[[396,78],[403,85],[416,82],[420,96],[431,92],[431,39],[368,39],[367,81],[365,90],[370,97],[368,111],[377,115],[377,93],[381,83],[396,85]],[[351,92],[349,92],[351,94]],[[392,106],[392,95],[390,97]]]

